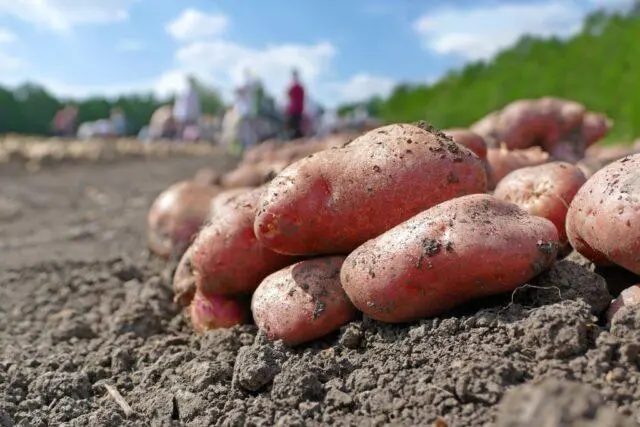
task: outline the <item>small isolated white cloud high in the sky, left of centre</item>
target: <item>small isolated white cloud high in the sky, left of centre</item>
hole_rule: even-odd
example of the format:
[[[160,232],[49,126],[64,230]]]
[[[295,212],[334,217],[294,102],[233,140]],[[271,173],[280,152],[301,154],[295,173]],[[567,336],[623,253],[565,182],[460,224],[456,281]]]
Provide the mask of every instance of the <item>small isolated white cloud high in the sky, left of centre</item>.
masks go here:
[[[219,36],[228,25],[229,20],[225,15],[208,14],[189,8],[167,24],[166,30],[176,40],[193,41]]]

